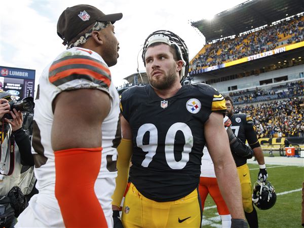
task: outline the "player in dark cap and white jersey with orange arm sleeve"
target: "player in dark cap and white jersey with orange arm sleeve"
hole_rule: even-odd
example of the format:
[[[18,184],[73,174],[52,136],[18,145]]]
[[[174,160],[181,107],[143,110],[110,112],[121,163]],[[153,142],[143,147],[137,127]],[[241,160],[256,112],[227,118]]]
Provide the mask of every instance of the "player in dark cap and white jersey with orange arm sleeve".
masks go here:
[[[121,18],[89,5],[67,8],[59,17],[57,33],[68,47],[43,71],[35,100],[39,194],[16,227],[112,226],[121,130],[108,67],[119,56],[112,24]]]

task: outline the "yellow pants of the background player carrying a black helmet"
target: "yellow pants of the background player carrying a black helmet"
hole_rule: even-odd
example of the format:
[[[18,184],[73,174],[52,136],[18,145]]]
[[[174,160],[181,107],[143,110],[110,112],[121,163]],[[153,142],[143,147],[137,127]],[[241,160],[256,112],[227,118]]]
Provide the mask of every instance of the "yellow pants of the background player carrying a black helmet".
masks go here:
[[[242,165],[237,167],[237,171],[240,178],[241,188],[242,188],[242,201],[244,211],[250,213],[253,211],[252,206],[252,187],[250,180],[250,172],[248,165]]]

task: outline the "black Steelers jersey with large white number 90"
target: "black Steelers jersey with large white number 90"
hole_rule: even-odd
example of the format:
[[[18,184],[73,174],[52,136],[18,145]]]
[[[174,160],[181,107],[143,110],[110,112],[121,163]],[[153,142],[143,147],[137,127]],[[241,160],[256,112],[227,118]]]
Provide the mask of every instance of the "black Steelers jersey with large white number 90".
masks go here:
[[[204,123],[212,111],[225,113],[225,100],[206,84],[184,85],[160,98],[150,85],[121,97],[122,115],[132,131],[131,182],[146,198],[180,199],[198,186],[205,145]]]

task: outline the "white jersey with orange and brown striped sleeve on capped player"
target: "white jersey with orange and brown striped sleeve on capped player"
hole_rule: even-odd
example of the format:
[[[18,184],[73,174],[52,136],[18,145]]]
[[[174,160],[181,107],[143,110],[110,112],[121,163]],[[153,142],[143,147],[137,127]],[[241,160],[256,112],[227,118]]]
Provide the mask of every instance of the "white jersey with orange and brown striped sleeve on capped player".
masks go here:
[[[116,148],[121,140],[119,95],[111,83],[110,71],[101,56],[91,50],[74,47],[61,53],[45,68],[40,78],[35,99],[32,137],[36,188],[39,194],[32,197],[26,208],[32,210],[33,222],[21,214],[17,226],[64,226],[55,198],[55,156],[51,146],[54,118],[52,102],[60,92],[74,89],[98,89],[109,94],[111,98],[110,112],[102,123],[103,150],[101,167],[95,182],[95,193],[105,216],[112,215],[111,196],[117,176]],[[70,134],[77,132],[71,129]]]

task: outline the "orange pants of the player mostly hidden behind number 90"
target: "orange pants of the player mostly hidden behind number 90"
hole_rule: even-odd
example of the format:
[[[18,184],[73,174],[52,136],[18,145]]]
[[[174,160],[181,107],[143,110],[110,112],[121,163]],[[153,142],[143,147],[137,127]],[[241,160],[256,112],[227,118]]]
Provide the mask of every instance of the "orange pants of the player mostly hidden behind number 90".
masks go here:
[[[208,193],[214,200],[219,215],[230,214],[224,199],[222,198],[215,177],[200,177],[199,194],[202,201],[202,210],[204,210],[205,200]]]

